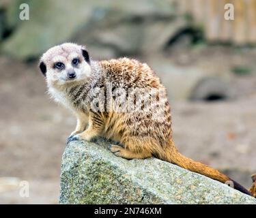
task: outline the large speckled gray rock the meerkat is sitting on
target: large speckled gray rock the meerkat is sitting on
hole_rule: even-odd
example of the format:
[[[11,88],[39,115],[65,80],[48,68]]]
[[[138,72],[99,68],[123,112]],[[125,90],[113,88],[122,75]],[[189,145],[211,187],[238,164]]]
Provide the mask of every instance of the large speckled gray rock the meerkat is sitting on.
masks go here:
[[[240,191],[160,159],[115,157],[110,143],[99,138],[68,144],[61,204],[256,204]]]

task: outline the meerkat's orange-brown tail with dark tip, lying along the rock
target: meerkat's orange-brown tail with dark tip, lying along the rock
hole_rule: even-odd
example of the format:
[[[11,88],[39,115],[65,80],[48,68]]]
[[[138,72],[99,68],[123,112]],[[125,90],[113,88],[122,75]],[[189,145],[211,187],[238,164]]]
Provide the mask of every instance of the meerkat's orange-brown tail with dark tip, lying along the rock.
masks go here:
[[[233,187],[234,189],[237,189],[238,191],[241,191],[242,193],[246,193],[249,196],[251,196],[251,193],[246,188],[242,187],[242,185],[238,184],[236,181],[233,181],[231,178],[229,178],[225,174],[219,172],[214,168],[210,168],[209,166],[206,166],[203,163],[194,161],[193,159],[190,159],[180,154],[177,151],[172,140],[169,146],[171,146],[171,148],[169,147],[167,151],[167,157],[166,157],[167,161],[174,163],[177,166],[180,166],[186,170],[197,172],[199,174],[212,178],[216,181],[220,181],[221,183],[227,183],[229,186]]]

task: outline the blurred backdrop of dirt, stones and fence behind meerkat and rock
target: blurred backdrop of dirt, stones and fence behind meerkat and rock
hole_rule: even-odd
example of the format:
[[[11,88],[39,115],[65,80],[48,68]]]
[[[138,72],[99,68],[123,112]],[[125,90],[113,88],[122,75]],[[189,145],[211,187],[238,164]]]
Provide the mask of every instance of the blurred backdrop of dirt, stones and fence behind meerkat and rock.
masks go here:
[[[21,3],[29,20],[20,20]],[[227,3],[234,20],[225,20]],[[93,59],[147,62],[168,89],[180,152],[251,185],[256,0],[1,0],[0,203],[58,203],[76,120],[47,95],[38,59],[62,42],[85,44]]]

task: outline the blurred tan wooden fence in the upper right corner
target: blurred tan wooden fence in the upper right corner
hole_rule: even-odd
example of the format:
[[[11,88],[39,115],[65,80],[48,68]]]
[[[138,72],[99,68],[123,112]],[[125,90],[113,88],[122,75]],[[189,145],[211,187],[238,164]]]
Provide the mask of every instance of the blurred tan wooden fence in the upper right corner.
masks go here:
[[[225,20],[225,5],[234,6],[234,20]],[[182,14],[190,14],[210,41],[256,44],[256,0],[177,0]]]

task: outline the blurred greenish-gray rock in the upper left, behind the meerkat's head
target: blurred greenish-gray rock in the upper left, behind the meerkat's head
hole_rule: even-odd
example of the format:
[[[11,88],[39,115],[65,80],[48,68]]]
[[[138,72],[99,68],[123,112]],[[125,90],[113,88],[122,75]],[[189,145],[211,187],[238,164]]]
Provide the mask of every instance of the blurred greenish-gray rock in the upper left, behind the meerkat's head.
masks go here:
[[[28,1],[28,4],[29,20],[18,18],[20,0],[8,7],[8,24],[16,29],[1,49],[16,59],[38,57],[47,48],[70,39],[89,17],[89,8],[83,0]],[[78,7],[79,4],[83,5]]]

